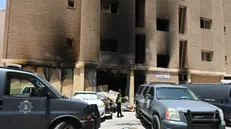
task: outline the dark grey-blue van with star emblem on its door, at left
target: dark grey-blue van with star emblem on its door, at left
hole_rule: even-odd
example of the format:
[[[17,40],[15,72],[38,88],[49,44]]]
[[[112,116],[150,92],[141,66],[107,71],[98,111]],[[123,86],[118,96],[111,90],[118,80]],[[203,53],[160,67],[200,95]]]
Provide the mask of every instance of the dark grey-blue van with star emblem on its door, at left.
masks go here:
[[[71,100],[36,73],[0,68],[0,125],[3,129],[97,129],[97,105]],[[32,88],[22,92],[25,87]]]

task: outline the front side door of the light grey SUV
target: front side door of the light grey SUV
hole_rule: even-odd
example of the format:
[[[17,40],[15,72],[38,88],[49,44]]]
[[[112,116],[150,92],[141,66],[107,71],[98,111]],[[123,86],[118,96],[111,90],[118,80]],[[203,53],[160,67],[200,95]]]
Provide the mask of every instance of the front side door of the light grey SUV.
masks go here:
[[[149,118],[151,118],[151,109],[153,107],[153,98],[154,98],[154,88],[153,87],[150,87],[149,88],[149,91],[147,92],[146,95],[150,95],[152,98],[147,98],[145,97],[145,106],[144,106],[144,112],[145,112],[145,115],[148,116]]]

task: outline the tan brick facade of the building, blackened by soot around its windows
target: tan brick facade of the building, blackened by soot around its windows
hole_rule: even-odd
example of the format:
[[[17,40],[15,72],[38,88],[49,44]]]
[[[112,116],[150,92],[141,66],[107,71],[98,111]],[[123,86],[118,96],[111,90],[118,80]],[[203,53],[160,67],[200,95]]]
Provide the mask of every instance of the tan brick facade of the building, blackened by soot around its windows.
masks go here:
[[[75,0],[74,8],[67,7],[67,0],[8,0],[4,62],[32,65],[39,61],[39,67],[56,67],[57,60],[73,63],[74,75],[64,82],[64,93],[71,95],[84,89],[85,65],[101,65],[100,38],[117,39],[120,63],[116,65],[130,67],[135,60],[135,34],[141,33],[146,35],[146,61],[135,69],[146,70],[147,81],[178,83],[180,40],[188,41],[189,82],[218,78],[215,82],[219,83],[231,74],[229,0],[146,0],[144,28],[135,27],[135,0],[119,0],[118,14],[101,12],[100,5],[100,0]],[[185,34],[178,32],[179,6],[187,7]],[[169,20],[168,32],[157,30],[157,17]],[[212,19],[210,30],[200,28],[201,17]],[[73,38],[73,49],[65,47],[66,38]],[[202,50],[213,51],[212,62],[201,60]],[[157,54],[169,54],[168,68],[157,68]],[[170,72],[171,78],[156,79],[158,71]],[[51,80],[59,89],[58,76]]]

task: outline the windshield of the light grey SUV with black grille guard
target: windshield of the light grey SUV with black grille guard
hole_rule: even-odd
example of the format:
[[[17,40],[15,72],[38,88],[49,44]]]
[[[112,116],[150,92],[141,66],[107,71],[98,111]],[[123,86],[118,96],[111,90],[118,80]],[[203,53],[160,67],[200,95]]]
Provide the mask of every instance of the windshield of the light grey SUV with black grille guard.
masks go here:
[[[188,88],[157,88],[156,97],[160,100],[198,100]]]

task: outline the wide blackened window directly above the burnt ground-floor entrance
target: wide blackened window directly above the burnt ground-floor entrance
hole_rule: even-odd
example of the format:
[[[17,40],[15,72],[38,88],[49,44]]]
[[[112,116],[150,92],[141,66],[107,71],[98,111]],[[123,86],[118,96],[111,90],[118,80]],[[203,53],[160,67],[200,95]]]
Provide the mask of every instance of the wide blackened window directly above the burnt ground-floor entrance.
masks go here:
[[[100,51],[118,52],[118,40],[117,39],[101,39]]]

